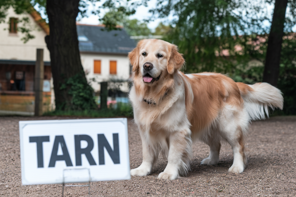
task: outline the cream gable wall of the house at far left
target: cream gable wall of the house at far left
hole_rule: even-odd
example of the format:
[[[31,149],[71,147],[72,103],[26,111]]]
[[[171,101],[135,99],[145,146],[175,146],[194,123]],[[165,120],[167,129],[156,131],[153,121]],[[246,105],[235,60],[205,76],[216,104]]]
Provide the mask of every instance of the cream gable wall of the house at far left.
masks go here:
[[[17,34],[9,33],[9,18],[15,17],[22,19],[28,17],[30,19],[30,25],[34,28],[30,34],[34,35],[34,39],[30,39],[27,43],[23,43],[21,38],[24,34],[17,32]],[[18,24],[18,27],[21,27]],[[6,29],[6,30],[4,30]],[[8,9],[5,22],[0,23],[0,59],[14,59],[14,60],[29,60],[36,61],[36,49],[44,49],[44,61],[50,61],[49,51],[46,47],[45,38],[46,33],[44,30],[36,24],[33,17],[30,14],[15,14],[12,7]]]

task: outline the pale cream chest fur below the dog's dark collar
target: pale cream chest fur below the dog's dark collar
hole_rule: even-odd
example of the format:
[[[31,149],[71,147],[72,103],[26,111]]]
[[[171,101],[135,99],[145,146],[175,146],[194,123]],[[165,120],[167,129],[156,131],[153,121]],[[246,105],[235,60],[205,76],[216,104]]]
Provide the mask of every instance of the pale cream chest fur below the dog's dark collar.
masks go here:
[[[174,90],[157,104],[143,101],[143,96],[136,94],[135,87],[132,87],[129,97],[133,105],[135,122],[146,131],[157,129],[174,132],[190,126],[186,115],[183,83],[175,84]]]

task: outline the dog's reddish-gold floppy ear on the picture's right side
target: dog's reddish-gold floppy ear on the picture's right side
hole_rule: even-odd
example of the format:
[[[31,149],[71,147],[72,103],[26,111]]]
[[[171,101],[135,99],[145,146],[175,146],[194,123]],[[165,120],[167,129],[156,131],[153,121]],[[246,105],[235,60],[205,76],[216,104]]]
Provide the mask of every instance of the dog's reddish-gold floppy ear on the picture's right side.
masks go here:
[[[176,45],[171,44],[168,48],[168,73],[173,74],[176,70],[179,70],[185,60],[183,56],[178,52]]]

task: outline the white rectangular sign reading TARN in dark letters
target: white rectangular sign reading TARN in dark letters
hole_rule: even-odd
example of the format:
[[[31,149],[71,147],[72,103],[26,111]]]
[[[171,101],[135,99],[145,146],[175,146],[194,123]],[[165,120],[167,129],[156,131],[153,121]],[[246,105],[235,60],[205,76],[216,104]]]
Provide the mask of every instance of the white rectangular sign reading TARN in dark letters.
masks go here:
[[[130,179],[126,118],[20,121],[22,184]]]

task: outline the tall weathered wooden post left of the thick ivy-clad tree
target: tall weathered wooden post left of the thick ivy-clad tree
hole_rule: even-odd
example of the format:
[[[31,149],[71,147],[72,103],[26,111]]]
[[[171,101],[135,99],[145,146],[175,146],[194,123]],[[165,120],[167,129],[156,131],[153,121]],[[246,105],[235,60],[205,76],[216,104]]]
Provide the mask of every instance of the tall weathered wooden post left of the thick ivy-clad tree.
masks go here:
[[[44,62],[43,49],[37,49],[36,64],[35,64],[35,116],[42,115],[43,106],[43,79],[44,79]]]

